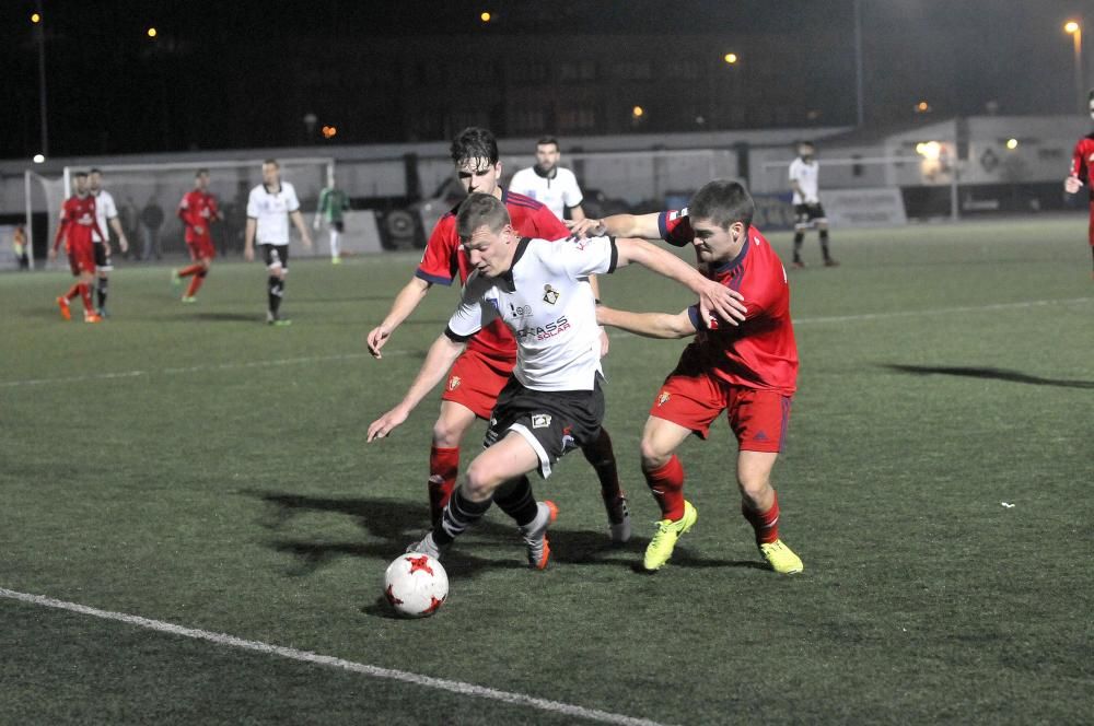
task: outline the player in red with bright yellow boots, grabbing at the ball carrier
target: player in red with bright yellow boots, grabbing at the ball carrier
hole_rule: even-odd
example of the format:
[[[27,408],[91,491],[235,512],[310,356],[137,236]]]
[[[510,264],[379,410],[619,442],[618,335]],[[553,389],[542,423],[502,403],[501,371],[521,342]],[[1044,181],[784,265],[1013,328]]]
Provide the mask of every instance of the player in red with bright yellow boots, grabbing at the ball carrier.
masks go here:
[[[752,226],[755,210],[744,187],[715,180],[699,189],[685,210],[621,214],[592,225],[609,234],[660,233],[670,244],[693,245],[703,274],[740,292],[747,306],[738,327],[703,319],[695,306],[677,315],[600,308],[603,325],[651,338],[696,337],[657,391],[642,433],[642,471],[663,514],[645,550],[647,570],[663,566],[698,518],[684,499],[684,469],[675,452],[689,434],[706,438],[722,411],[737,438],[742,513],[757,547],[776,572],[803,569],[779,539],[779,501],[771,487],[798,382],[790,288],[779,256]]]

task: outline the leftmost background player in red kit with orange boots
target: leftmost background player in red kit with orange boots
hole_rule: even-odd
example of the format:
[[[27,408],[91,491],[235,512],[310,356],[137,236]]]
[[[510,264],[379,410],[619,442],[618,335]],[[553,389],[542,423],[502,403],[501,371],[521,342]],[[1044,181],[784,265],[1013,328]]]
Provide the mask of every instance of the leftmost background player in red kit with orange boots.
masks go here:
[[[105,239],[106,236],[95,220],[95,198],[88,188],[88,174],[77,172],[74,182],[75,194],[66,199],[61,206],[60,224],[57,227],[54,246],[49,249],[49,259],[57,258],[57,248],[63,239],[69,268],[77,282],[57,298],[57,306],[61,309],[61,317],[71,320],[69,301],[80,295],[83,301],[84,323],[101,323],[103,318],[95,313],[91,304],[91,284],[95,280],[95,249],[91,234],[92,231],[96,232],[101,239]]]

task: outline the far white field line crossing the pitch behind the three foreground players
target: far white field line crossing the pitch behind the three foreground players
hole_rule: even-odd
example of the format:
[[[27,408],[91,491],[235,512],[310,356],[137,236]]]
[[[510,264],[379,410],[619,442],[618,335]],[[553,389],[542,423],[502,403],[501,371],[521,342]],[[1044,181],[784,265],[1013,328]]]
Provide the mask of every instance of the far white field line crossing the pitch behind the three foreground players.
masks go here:
[[[1021,303],[996,303],[992,305],[969,305],[966,307],[940,307],[927,311],[895,311],[891,313],[862,313],[859,315],[835,315],[829,317],[804,317],[794,318],[795,326],[817,325],[826,323],[854,323],[859,320],[885,320],[897,317],[922,317],[927,315],[952,315],[955,313],[984,313],[991,311],[1022,309],[1028,307],[1044,307],[1047,305],[1075,305],[1094,302],[1094,297],[1071,297],[1067,300],[1029,300]],[[612,336],[622,336],[613,331]],[[385,351],[385,356],[408,355],[412,351]],[[351,361],[362,358],[370,358],[369,353],[340,353],[337,355],[313,355],[306,358],[284,358],[269,361],[249,361],[247,363],[220,363],[217,365],[191,365],[179,368],[162,368],[160,371],[120,371],[115,373],[95,373],[84,376],[69,376],[66,378],[30,378],[24,380],[2,380],[0,388],[16,388],[23,386],[42,386],[55,383],[83,383],[86,380],[102,380],[105,378],[137,378],[154,374],[175,375],[179,373],[201,373],[203,371],[231,371],[235,368],[260,368],[275,365],[300,365],[304,363],[323,363],[326,361]]]

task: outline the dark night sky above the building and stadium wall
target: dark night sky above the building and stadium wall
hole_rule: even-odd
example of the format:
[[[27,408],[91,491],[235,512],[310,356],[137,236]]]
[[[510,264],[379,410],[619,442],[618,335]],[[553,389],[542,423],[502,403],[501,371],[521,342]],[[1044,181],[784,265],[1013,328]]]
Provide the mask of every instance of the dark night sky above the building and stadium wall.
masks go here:
[[[854,120],[851,0],[493,0],[492,2],[311,3],[191,0],[189,2],[79,2],[42,0],[45,15],[50,155],[225,149],[254,143],[246,128],[226,128],[233,104],[260,104],[248,95],[257,75],[291,89],[284,66],[309,62],[322,44],[361,47],[398,38],[423,62],[458,65],[462,51],[500,35],[651,34],[672,45],[710,43],[712,52],[734,38],[784,34],[810,72],[817,58],[846,73],[847,96],[834,98],[828,119]],[[869,121],[911,114],[909,94],[930,98],[940,116],[1075,112],[1072,43],[1061,26],[1083,20],[1090,3],[1074,0],[862,0],[865,107]],[[7,113],[0,157],[39,151],[36,3],[0,3],[0,74]],[[479,13],[490,11],[489,24]],[[1094,20],[1094,12],[1091,13]],[[146,31],[158,28],[151,39]],[[836,27],[846,43],[810,42],[812,28]],[[1085,27],[1085,24],[1084,24]],[[440,46],[422,38],[451,37]],[[1089,57],[1094,32],[1089,32]],[[791,40],[788,40],[791,42]],[[641,54],[636,47],[635,54]],[[1087,63],[1086,83],[1094,84]],[[324,69],[344,77],[322,107],[356,93],[352,67]],[[311,99],[310,99],[311,101]],[[293,121],[295,122],[295,121]],[[234,126],[238,126],[237,124]],[[271,125],[267,145],[299,143],[289,124]],[[394,134],[394,136],[393,136]],[[342,143],[404,140],[350,125]]]

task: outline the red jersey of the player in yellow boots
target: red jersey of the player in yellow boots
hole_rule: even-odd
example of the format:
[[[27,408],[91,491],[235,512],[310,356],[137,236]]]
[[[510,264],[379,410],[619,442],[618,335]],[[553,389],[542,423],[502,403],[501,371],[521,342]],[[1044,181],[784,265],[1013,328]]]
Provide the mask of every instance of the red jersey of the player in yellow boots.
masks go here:
[[[695,233],[687,210],[662,212],[657,220],[665,242],[683,247]],[[698,305],[688,313],[698,332],[684,349],[678,371],[708,373],[735,386],[777,390],[790,396],[798,388],[798,344],[790,319],[790,285],[782,260],[759,230],[748,227],[741,253],[702,273],[744,295],[747,306],[740,326],[710,329]]]

